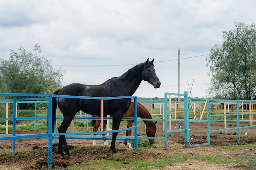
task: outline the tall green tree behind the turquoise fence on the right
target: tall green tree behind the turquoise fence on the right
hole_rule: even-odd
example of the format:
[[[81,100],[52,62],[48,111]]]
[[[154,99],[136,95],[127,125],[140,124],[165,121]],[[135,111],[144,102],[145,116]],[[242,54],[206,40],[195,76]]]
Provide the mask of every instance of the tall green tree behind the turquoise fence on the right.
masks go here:
[[[256,26],[235,22],[223,32],[223,43],[215,44],[207,57],[213,98],[256,99]]]

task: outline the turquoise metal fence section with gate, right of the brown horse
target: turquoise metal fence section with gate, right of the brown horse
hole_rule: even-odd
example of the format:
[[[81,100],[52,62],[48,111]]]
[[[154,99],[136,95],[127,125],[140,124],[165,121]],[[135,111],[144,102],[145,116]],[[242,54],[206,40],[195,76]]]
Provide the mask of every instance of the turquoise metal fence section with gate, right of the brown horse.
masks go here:
[[[171,119],[171,121],[184,121],[184,128],[183,129],[177,129],[177,130],[168,130],[167,129],[167,121],[170,120],[167,119],[167,115],[168,114],[172,114],[171,110],[168,111],[167,109],[167,104],[169,103],[169,105],[171,104],[171,102],[167,102],[167,96],[168,95],[172,95],[172,96],[184,96],[184,119],[183,120],[176,120],[176,119]],[[207,102],[207,113],[206,113],[206,120],[197,120],[197,119],[189,119],[189,109],[190,107],[190,102],[189,100],[200,100],[200,102],[204,101]],[[198,101],[199,102],[199,101]],[[173,132],[183,132],[184,131],[184,144],[186,147],[195,147],[195,146],[202,146],[202,145],[210,145],[210,134],[214,133],[214,132],[220,132],[220,131],[225,131],[225,133],[227,133],[227,131],[229,130],[237,130],[237,140],[238,143],[240,143],[240,129],[245,129],[245,128],[251,128],[251,127],[255,127],[256,125],[252,124],[255,123],[256,120],[253,120],[253,115],[256,114],[256,112],[249,112],[249,113],[240,113],[240,105],[241,103],[256,103],[256,100],[218,100],[218,99],[207,99],[207,98],[192,98],[188,96],[188,92],[184,92],[184,94],[176,94],[176,93],[165,93],[165,102],[164,102],[164,112],[167,113],[164,116],[164,124],[165,124],[165,129],[164,129],[164,133],[165,133],[165,148],[167,149],[167,136],[168,133],[173,133]],[[228,114],[214,114],[211,113],[210,111],[210,104],[217,104],[217,103],[224,103],[224,107],[225,107],[225,103],[229,104],[229,103],[236,103],[236,113],[228,113]],[[242,106],[243,107],[243,106]],[[247,115],[248,117],[250,117],[250,120],[241,120],[240,116],[242,115]],[[217,117],[217,116],[235,116],[236,120],[210,120],[210,117]],[[167,121],[166,121],[167,120]],[[217,129],[217,130],[211,130],[211,126],[210,123],[211,122],[236,122],[236,127],[230,127],[227,128],[227,126],[224,129]],[[202,144],[193,144],[190,145],[190,133],[189,133],[189,122],[206,122],[207,123],[207,142],[206,143],[202,143]],[[240,122],[250,122],[250,125],[248,126],[240,126]]]

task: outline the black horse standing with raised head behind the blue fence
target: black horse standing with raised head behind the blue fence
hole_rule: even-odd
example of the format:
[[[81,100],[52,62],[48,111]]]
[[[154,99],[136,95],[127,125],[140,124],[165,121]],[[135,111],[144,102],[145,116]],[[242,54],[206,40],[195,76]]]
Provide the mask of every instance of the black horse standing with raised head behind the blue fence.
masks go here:
[[[155,88],[159,88],[161,83],[159,78],[155,74],[155,69],[152,61],[140,63],[129,69],[123,75],[119,77],[110,78],[101,85],[83,85],[79,83],[73,83],[63,87],[62,89],[54,92],[58,95],[71,95],[71,96],[92,96],[92,97],[115,97],[115,96],[132,96],[141,81],[147,81]],[[63,113],[63,122],[58,128],[59,133],[65,133],[72,119],[80,110],[91,114],[100,115],[100,100],[92,99],[75,99],[75,98],[53,98],[52,102],[52,115],[53,124],[56,121],[56,104]],[[104,100],[103,113],[106,115],[112,115],[113,125],[112,129],[119,129],[121,119],[124,113],[129,109],[130,99],[115,99]],[[117,132],[112,133],[112,142],[110,149],[113,153],[117,153],[115,149],[115,142],[117,139]],[[63,147],[64,146],[64,147]],[[65,154],[63,153],[63,149]],[[69,158],[70,153],[67,147],[67,142],[64,135],[59,137],[58,153],[63,158]]]

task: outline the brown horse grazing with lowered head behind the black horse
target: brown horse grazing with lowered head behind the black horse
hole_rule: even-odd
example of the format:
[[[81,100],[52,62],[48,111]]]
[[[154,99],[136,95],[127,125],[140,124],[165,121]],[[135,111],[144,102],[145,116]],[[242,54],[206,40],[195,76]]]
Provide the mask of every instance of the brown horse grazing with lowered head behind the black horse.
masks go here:
[[[148,110],[143,105],[141,105],[139,102],[137,102],[137,113],[138,113],[138,117],[140,117],[142,119],[153,119],[153,117],[150,115]],[[98,118],[100,116],[92,115],[92,117]],[[124,113],[123,117],[125,117],[125,118],[133,118],[134,117],[134,102],[131,102],[128,111],[126,111]],[[127,122],[128,122],[127,128],[132,127],[133,120],[128,120]],[[101,123],[100,120],[92,120],[92,126],[93,126],[94,132],[98,131],[100,123]],[[148,135],[148,137],[155,137],[155,133],[157,131],[157,127],[155,124],[157,123],[157,121],[153,122],[152,120],[151,121],[144,120],[144,123],[146,124],[146,134]],[[104,131],[106,129],[106,125],[107,125],[107,120],[104,120],[104,125],[103,125]],[[126,136],[130,136],[131,134],[132,134],[132,130],[126,131]],[[102,135],[105,135],[105,134],[102,134]],[[154,142],[155,142],[155,139],[148,139],[148,140],[149,140],[150,144],[154,144]],[[105,144],[105,146],[108,146],[108,142],[106,140],[104,140],[104,144]],[[132,148],[130,141],[128,141],[128,142],[125,141],[124,144],[128,145],[129,148]],[[93,146],[96,145],[96,140],[93,140],[92,145]]]

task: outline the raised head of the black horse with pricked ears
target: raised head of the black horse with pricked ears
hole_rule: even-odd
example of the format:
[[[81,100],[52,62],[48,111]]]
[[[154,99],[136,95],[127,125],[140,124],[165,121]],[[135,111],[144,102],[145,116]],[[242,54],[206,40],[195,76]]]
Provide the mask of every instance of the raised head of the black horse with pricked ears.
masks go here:
[[[161,82],[159,81],[159,78],[155,74],[155,69],[153,65],[154,59],[152,61],[147,61],[144,63],[144,70],[141,74],[142,80],[147,81],[151,85],[153,85],[155,88],[159,88],[161,85]]]

